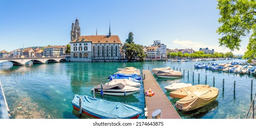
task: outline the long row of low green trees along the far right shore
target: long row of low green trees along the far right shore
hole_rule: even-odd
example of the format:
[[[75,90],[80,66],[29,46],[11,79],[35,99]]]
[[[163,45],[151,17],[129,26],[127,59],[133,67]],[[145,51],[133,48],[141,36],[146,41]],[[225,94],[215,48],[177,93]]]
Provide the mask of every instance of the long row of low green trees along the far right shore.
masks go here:
[[[204,54],[203,51],[197,51],[195,53],[189,54],[189,53],[184,53],[182,54],[181,52],[178,53],[167,53],[167,58],[182,58],[182,57],[186,57],[186,58],[231,58],[233,57],[234,54],[232,52],[228,52],[228,53],[218,53],[215,52],[214,54]]]

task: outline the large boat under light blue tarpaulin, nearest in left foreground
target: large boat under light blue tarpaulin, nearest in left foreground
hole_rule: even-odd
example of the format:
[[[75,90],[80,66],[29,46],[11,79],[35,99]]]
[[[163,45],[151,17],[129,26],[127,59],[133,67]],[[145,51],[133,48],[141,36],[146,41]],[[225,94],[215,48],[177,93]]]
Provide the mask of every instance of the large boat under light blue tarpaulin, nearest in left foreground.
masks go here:
[[[71,101],[73,108],[79,111],[81,97],[82,113],[101,119],[129,119],[138,118],[142,110],[120,102],[106,101],[90,96],[75,95]]]

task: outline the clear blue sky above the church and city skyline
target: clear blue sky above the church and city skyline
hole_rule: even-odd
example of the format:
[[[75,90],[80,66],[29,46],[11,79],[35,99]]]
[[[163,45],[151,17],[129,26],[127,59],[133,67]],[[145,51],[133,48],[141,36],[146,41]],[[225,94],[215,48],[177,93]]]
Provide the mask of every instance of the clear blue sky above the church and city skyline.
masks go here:
[[[0,50],[66,45],[78,17],[81,35],[118,35],[122,43],[133,32],[144,46],[160,40],[167,48],[219,47],[216,0],[0,0]],[[242,39],[243,54],[248,39]]]

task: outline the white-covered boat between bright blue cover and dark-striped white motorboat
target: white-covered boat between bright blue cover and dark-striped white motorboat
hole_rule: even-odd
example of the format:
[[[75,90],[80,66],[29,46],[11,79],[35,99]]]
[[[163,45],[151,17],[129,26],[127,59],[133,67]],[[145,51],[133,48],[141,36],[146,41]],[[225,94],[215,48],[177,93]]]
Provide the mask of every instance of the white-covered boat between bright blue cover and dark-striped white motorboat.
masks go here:
[[[139,87],[140,86],[139,82],[134,82],[134,81],[128,80],[128,79],[113,79],[110,82],[105,83],[105,85],[116,85],[118,83],[122,83],[123,85],[133,86],[133,87]]]

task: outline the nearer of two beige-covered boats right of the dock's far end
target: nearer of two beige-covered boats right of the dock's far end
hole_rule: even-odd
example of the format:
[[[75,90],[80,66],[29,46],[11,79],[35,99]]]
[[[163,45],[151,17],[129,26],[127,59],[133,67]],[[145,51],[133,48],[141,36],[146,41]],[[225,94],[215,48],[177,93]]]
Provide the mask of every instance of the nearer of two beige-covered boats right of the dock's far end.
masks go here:
[[[181,77],[182,73],[175,70],[160,70],[157,73],[155,73],[155,75],[161,78],[177,78]]]

